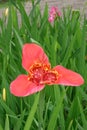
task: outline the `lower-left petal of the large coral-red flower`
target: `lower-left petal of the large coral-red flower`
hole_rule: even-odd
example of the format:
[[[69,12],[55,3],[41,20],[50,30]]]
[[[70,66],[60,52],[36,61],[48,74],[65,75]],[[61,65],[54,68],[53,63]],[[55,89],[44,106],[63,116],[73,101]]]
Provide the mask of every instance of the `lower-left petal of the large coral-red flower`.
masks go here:
[[[28,80],[27,75],[19,75],[12,83],[10,84],[10,91],[15,96],[28,96],[30,94],[41,91],[44,88],[44,85],[37,86],[36,84]]]

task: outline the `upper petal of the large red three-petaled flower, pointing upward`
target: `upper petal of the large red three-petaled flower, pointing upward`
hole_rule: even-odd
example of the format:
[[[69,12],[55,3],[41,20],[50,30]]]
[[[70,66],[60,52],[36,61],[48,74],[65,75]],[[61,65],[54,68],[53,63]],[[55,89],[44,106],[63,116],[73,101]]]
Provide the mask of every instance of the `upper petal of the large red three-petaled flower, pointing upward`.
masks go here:
[[[35,62],[49,63],[48,57],[43,49],[34,43],[25,44],[23,46],[22,54],[22,66],[27,71],[29,71],[29,67]]]

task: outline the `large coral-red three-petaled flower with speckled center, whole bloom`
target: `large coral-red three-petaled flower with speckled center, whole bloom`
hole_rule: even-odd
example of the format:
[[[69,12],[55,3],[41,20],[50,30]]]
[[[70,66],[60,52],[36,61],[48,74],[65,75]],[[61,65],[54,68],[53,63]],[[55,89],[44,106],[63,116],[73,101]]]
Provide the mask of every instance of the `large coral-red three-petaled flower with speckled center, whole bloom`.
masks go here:
[[[79,86],[84,83],[80,74],[63,66],[51,68],[43,49],[34,44],[25,44],[22,51],[22,66],[28,72],[21,74],[10,84],[10,91],[15,96],[27,96],[44,89],[45,84]]]

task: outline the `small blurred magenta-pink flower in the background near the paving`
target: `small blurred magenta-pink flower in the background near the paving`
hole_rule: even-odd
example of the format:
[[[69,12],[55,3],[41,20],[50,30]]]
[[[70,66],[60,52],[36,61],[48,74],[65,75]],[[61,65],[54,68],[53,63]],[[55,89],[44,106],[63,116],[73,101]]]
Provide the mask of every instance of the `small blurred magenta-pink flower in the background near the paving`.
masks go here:
[[[53,22],[56,19],[56,17],[60,17],[60,16],[61,16],[61,12],[58,10],[57,7],[53,6],[50,9],[48,21]]]

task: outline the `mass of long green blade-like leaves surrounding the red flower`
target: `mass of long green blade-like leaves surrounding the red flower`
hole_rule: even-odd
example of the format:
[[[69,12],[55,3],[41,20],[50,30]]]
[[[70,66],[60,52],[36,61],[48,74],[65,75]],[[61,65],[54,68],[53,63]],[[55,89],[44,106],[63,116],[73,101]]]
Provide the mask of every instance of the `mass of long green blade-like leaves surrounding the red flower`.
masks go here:
[[[87,130],[86,16],[63,9],[51,24],[48,5],[42,14],[39,1],[32,0],[27,14],[24,2],[10,0],[0,19],[0,130]],[[11,81],[26,73],[21,65],[22,46],[30,42],[44,48],[52,67],[61,64],[80,73],[84,85],[46,86],[25,98],[11,95]]]

